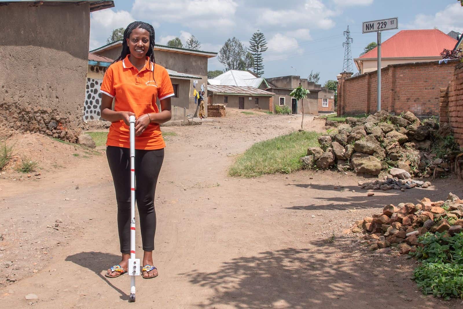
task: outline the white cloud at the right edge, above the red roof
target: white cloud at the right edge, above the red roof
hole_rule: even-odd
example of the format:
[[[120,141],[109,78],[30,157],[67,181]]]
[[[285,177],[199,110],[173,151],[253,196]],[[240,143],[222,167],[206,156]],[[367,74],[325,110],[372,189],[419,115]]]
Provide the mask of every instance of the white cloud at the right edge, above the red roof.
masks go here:
[[[418,14],[411,24],[405,25],[410,29],[432,29],[434,26],[445,33],[452,30],[462,32],[463,18],[460,3],[450,4],[434,15]]]

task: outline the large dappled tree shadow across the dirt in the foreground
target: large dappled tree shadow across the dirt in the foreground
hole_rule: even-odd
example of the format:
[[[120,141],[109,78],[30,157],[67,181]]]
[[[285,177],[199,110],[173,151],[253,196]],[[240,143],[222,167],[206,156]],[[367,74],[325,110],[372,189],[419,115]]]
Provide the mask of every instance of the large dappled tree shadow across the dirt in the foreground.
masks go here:
[[[411,268],[400,265],[410,261],[384,255],[379,262],[357,246],[349,238],[313,241],[307,248],[241,256],[217,272],[182,275],[214,290],[194,304],[199,308],[446,308],[415,292]]]

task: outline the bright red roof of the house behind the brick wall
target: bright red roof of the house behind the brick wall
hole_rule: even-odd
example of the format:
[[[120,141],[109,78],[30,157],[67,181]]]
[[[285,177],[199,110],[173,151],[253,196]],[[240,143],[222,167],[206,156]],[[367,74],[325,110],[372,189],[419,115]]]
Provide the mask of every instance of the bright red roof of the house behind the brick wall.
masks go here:
[[[431,30],[401,30],[381,45],[382,58],[440,56],[442,50],[453,49],[457,40],[444,32]],[[358,57],[358,59],[377,57],[377,48]]]

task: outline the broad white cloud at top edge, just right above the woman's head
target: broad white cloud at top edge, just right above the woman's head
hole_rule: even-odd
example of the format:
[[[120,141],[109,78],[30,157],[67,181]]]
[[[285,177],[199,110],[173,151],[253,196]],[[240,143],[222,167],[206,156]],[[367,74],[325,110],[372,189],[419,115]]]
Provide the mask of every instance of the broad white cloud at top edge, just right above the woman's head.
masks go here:
[[[175,22],[199,28],[235,25],[238,4],[234,0],[135,0],[132,14],[165,22]]]

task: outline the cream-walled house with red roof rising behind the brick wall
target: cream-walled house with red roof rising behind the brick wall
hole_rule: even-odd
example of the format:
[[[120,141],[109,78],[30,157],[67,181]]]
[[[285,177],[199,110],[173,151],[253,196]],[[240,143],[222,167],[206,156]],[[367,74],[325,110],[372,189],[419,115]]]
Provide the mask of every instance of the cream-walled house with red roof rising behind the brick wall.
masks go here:
[[[442,59],[444,49],[454,49],[457,40],[444,32],[431,30],[401,30],[381,45],[381,67],[409,62],[431,62]],[[354,58],[360,74],[376,71],[377,48]]]

